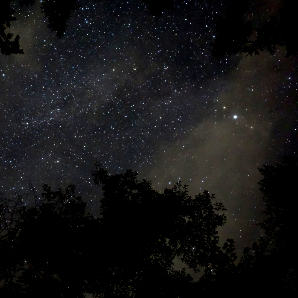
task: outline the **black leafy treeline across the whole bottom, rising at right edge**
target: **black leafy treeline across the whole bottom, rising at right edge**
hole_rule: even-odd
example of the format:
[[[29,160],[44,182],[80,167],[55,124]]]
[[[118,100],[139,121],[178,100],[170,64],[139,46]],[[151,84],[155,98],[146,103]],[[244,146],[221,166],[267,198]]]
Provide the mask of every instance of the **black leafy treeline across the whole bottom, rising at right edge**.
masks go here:
[[[210,297],[287,295],[296,292],[297,158],[259,169],[266,236],[236,264],[233,239],[218,246],[226,210],[204,191],[195,198],[177,183],[163,193],[137,173],[109,175],[98,163],[91,173],[102,185],[100,216],[86,213],[74,185],[41,199],[0,200],[0,297]],[[194,282],[180,258],[201,275]],[[202,269],[203,268],[203,269]]]

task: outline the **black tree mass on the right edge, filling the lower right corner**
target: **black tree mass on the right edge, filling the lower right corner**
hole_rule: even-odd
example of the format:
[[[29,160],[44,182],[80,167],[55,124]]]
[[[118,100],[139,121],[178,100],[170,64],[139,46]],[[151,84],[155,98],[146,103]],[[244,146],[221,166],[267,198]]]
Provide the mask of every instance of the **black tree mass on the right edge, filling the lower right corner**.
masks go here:
[[[244,248],[244,255],[237,266],[227,266],[213,279],[210,276],[206,279],[219,288],[231,286],[235,291],[245,289],[247,295],[258,293],[259,296],[294,297],[297,294],[298,265],[293,240],[298,227],[298,203],[294,197],[298,158],[285,157],[282,164],[264,165],[259,171],[263,175],[258,183],[264,196],[265,218],[256,225],[265,231],[266,236],[261,237],[258,244]],[[207,284],[210,286],[210,283]],[[212,293],[215,294],[214,291],[209,294]]]

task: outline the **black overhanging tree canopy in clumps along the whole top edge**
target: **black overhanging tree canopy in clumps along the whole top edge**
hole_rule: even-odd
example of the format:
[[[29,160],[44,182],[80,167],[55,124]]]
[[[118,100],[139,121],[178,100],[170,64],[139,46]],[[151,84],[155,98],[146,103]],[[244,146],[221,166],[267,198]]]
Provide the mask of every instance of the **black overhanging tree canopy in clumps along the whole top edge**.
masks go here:
[[[97,1],[97,0],[94,0]],[[35,0],[18,0],[17,8],[13,9],[12,0],[1,2],[0,9],[0,48],[5,55],[23,54],[20,49],[19,35],[13,39],[12,33],[6,33],[11,22],[16,20],[16,10],[35,4]],[[174,8],[175,1],[164,1],[161,3],[155,0],[142,0],[148,5],[152,15],[162,16],[164,11]],[[247,55],[259,55],[261,51],[275,52],[276,45],[286,47],[286,57],[296,56],[298,53],[295,42],[297,28],[296,11],[297,0],[281,0],[281,7],[273,14],[264,18],[254,13],[251,7],[257,5],[258,1],[223,1],[224,14],[215,17],[214,42],[212,53],[215,57],[222,57],[225,54],[238,52]],[[48,28],[56,32],[57,37],[62,38],[67,30],[67,21],[72,13],[80,8],[78,0],[56,1],[43,0],[41,12],[48,19]]]

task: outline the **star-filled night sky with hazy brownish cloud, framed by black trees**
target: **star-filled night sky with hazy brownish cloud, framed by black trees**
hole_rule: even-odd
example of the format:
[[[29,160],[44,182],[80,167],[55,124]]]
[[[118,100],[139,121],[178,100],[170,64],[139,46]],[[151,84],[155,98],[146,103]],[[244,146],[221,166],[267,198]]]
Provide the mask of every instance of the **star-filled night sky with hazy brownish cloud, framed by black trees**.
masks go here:
[[[177,181],[191,196],[207,189],[227,208],[220,243],[256,241],[258,167],[298,145],[298,59],[284,48],[214,58],[222,3],[180,1],[153,16],[137,0],[81,0],[62,39],[40,3],[17,11],[11,32],[24,54],[0,55],[2,194],[28,192],[29,180],[40,194],[44,183],[74,183],[97,215],[98,161],[158,191]]]

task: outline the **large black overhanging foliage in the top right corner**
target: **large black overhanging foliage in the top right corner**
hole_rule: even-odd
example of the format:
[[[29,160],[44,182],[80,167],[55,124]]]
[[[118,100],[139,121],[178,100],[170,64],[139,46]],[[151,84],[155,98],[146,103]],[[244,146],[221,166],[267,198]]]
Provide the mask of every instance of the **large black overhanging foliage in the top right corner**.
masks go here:
[[[296,57],[298,46],[294,36],[298,25],[298,1],[281,0],[281,3],[277,15],[263,21],[258,16],[259,19],[253,23],[248,17],[250,1],[228,1],[224,16],[218,16],[215,22],[213,55],[222,57],[243,52],[252,56],[264,50],[273,54],[275,46],[280,45],[286,46],[285,57]]]

